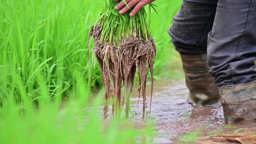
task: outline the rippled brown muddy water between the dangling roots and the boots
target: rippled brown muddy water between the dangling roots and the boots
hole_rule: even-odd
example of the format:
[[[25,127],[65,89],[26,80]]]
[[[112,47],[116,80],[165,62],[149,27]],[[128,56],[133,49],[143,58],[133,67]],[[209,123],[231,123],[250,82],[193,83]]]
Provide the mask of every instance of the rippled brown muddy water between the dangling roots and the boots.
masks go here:
[[[133,88],[131,98],[131,110],[134,116],[129,116],[141,128],[141,123],[146,121],[155,122],[157,129],[150,139],[153,144],[176,143],[177,137],[182,137],[190,132],[209,132],[222,129],[224,121],[222,108],[208,108],[194,106],[186,103],[188,89],[185,80],[156,81],[154,85],[151,113],[150,85],[147,86],[147,108],[145,119],[142,120],[143,99],[138,101],[137,87]],[[108,113],[109,121],[112,119],[111,107]]]

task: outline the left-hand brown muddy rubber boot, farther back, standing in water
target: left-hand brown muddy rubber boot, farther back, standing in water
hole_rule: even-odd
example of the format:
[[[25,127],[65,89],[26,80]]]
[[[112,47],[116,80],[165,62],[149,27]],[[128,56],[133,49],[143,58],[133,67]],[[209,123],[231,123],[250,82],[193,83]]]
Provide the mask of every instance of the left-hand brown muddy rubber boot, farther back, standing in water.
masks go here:
[[[182,58],[186,86],[189,89],[187,102],[206,107],[221,107],[219,88],[214,86],[215,79],[209,74],[207,53],[184,55]]]

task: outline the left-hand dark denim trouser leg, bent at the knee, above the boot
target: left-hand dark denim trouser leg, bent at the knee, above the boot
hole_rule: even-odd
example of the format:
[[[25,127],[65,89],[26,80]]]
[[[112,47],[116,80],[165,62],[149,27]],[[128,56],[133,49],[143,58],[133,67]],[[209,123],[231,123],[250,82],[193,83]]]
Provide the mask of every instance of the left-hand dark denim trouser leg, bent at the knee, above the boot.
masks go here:
[[[213,26],[218,0],[183,0],[168,29],[171,42],[182,54],[207,53],[207,36]]]

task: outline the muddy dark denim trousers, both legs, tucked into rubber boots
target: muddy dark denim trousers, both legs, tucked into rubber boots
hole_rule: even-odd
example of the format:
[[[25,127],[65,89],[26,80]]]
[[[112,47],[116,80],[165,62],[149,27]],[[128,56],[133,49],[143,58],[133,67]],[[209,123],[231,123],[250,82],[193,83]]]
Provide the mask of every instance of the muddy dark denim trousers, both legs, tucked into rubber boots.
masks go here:
[[[208,53],[215,86],[256,80],[256,0],[184,0],[168,33],[178,52]]]

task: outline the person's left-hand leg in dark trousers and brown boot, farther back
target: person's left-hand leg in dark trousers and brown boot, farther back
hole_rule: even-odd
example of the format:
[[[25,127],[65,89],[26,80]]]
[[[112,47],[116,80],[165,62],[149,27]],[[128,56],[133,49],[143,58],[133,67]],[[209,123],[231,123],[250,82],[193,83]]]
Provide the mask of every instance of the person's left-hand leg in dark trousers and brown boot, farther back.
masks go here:
[[[189,102],[220,106],[219,89],[207,67],[207,35],[211,31],[218,0],[184,0],[168,30],[180,52]]]

